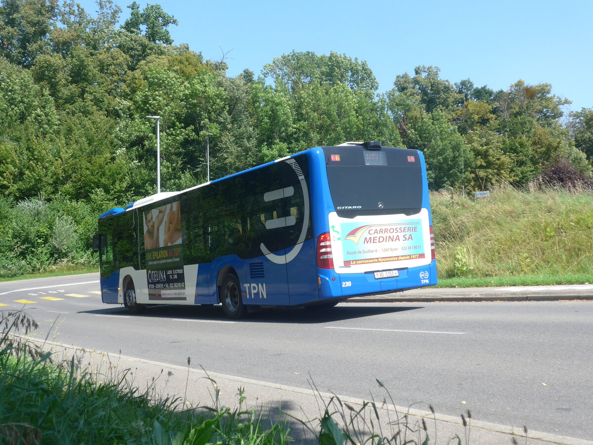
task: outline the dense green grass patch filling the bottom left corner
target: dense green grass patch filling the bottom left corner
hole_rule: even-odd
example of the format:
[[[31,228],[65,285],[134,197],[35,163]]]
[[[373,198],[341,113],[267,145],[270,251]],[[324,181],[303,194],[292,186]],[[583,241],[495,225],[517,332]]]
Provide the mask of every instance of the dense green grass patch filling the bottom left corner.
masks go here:
[[[222,406],[195,411],[183,400],[140,391],[128,371],[106,379],[75,358],[52,354],[14,333],[36,323],[24,312],[2,313],[0,443],[2,444],[284,444],[282,424],[267,425],[254,411]]]

